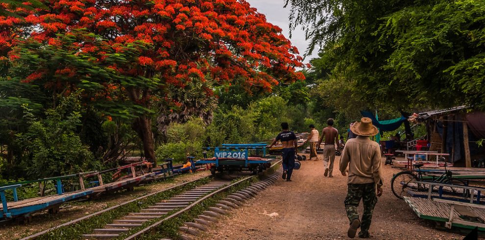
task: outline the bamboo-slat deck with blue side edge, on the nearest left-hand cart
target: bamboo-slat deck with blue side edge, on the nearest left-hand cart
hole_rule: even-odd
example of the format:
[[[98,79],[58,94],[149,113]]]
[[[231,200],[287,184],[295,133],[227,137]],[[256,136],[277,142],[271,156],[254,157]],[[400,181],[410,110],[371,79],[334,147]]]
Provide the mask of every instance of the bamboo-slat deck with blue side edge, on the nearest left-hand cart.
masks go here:
[[[25,199],[17,202],[7,202],[8,216],[2,214],[0,219],[3,217],[13,217],[24,214],[31,214],[34,212],[39,212],[42,210],[47,210],[50,208],[56,208],[59,204],[67,202],[76,198],[84,197],[92,194],[92,190],[68,192],[64,194],[55,194],[43,197],[35,197],[30,199]],[[3,211],[3,207],[0,206],[0,212]]]

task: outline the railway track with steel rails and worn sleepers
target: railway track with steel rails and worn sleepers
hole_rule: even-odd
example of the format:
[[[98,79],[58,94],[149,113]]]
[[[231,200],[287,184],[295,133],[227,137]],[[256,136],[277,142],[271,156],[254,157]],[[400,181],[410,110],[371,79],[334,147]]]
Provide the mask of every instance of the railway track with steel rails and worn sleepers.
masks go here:
[[[273,164],[271,167],[274,167],[279,163],[280,162],[277,162]],[[218,208],[213,208],[212,212],[209,211],[210,212],[208,213],[209,216],[201,216],[201,217],[206,217],[206,220],[207,220],[208,218],[211,218],[212,216],[218,214],[217,213],[218,210],[220,210],[219,211],[219,214],[220,214],[221,211],[225,211],[222,209],[228,209],[230,207],[234,207],[235,205],[239,204],[239,201],[242,201],[242,200],[248,199],[251,196],[254,196],[257,193],[257,191],[262,190],[264,187],[267,187],[270,184],[272,184],[272,182],[274,182],[274,180],[276,179],[274,176],[275,174],[272,174],[271,178],[260,181],[261,183],[258,182],[258,184],[248,187],[249,189],[245,189],[237,193],[233,193],[232,194],[233,198],[227,197],[225,200],[221,200],[221,202],[219,202],[217,205]],[[197,204],[200,204],[202,201],[210,197],[213,197],[214,195],[220,192],[227,191],[232,187],[241,184],[242,182],[248,181],[252,177],[253,176],[244,177],[234,183],[231,183],[230,181],[227,181],[227,180],[215,179],[207,184],[179,193],[167,200],[162,200],[160,202],[154,203],[146,208],[141,209],[139,212],[132,212],[125,216],[121,216],[117,219],[114,219],[112,223],[100,225],[99,228],[96,228],[93,231],[90,231],[89,233],[84,233],[81,238],[82,239],[120,239],[121,235],[126,235],[130,231],[136,231],[132,229],[141,228],[142,226],[146,225],[147,222],[153,222],[158,220],[156,222],[151,223],[149,226],[145,227],[144,229],[141,229],[140,231],[130,235],[129,237],[124,238],[125,240],[143,239],[142,237],[143,235],[149,234],[151,231],[154,231],[164,221],[174,218],[176,216],[179,216],[182,213],[191,210],[194,206],[196,206]],[[145,196],[130,200],[128,202],[124,202],[122,204],[99,211],[97,213],[94,213],[88,216],[83,216],[81,218],[72,220],[70,222],[61,224],[59,226],[55,226],[53,228],[47,229],[37,234],[25,237],[22,240],[37,239],[51,231],[58,230],[59,228],[76,224],[80,221],[120,208],[132,202],[143,201],[144,198],[160,192],[165,192],[178,187],[184,187],[187,184],[194,183],[203,178],[205,177],[201,177],[199,179],[195,179],[187,183],[179,184],[166,190],[147,194]],[[170,216],[167,216],[169,213],[172,213],[172,214],[170,214]],[[194,231],[196,232],[197,229],[194,229],[194,226],[201,226],[200,222],[204,222],[203,219],[199,219],[199,220],[200,220],[199,222],[195,222],[195,223],[186,223],[187,226],[181,227],[181,231],[185,231],[189,233],[190,232],[194,233]],[[204,227],[202,227],[202,229],[204,229]],[[200,228],[198,230],[200,230]]]

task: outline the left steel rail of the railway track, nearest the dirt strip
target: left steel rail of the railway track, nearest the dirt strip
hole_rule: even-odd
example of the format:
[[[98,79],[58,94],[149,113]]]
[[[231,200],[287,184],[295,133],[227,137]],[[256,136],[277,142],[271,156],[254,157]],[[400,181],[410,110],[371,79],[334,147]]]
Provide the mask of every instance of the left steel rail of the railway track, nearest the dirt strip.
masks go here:
[[[201,180],[201,179],[203,179],[203,178],[207,178],[207,177],[210,177],[210,176],[199,177],[199,178],[194,179],[194,180],[189,181],[189,182],[185,182],[185,183],[177,184],[177,185],[175,185],[175,186],[172,186],[172,187],[167,188],[167,189],[164,189],[164,190],[160,190],[160,191],[157,191],[157,192],[152,192],[152,193],[149,193],[149,194],[147,194],[147,195],[144,195],[144,196],[141,196],[141,197],[137,197],[137,198],[135,198],[135,199],[131,199],[131,200],[127,201],[127,202],[123,202],[123,203],[121,203],[121,204],[118,204],[118,205],[115,205],[115,206],[109,207],[109,208],[107,208],[107,209],[103,209],[103,210],[98,211],[98,212],[96,212],[96,213],[93,213],[93,214],[90,214],[90,215],[87,215],[87,216],[83,216],[83,217],[80,217],[80,218],[76,218],[76,219],[71,220],[71,221],[69,221],[69,222],[66,222],[66,223],[60,224],[60,225],[58,225],[58,226],[55,226],[55,227],[49,228],[49,229],[47,229],[47,230],[44,230],[44,231],[42,231],[42,232],[38,232],[38,233],[36,233],[36,234],[30,235],[30,236],[28,236],[28,237],[25,237],[25,238],[23,238],[23,239],[21,239],[21,240],[31,240],[31,239],[36,239],[36,238],[38,238],[38,237],[40,237],[40,236],[42,236],[42,235],[44,235],[44,234],[46,234],[46,233],[48,233],[48,232],[50,232],[50,231],[52,231],[52,230],[55,230],[55,229],[57,229],[57,228],[72,225],[72,224],[74,224],[74,223],[77,223],[77,222],[80,222],[80,221],[82,221],[82,220],[85,220],[85,219],[91,218],[91,217],[93,217],[93,216],[97,216],[97,215],[100,215],[100,214],[102,214],[102,213],[105,213],[105,212],[111,211],[111,210],[113,210],[113,209],[119,208],[119,207],[121,207],[121,206],[124,206],[124,205],[126,205],[126,204],[132,203],[132,202],[134,202],[134,201],[138,201],[138,200],[144,199],[144,198],[146,198],[146,197],[149,197],[149,196],[152,196],[152,195],[158,194],[158,193],[160,193],[160,192],[169,191],[169,190],[172,190],[172,189],[174,189],[174,188],[178,188],[178,187],[181,187],[181,186],[184,186],[184,185],[187,185],[187,184],[190,184],[190,183],[193,183],[193,182],[199,181],[199,180]]]

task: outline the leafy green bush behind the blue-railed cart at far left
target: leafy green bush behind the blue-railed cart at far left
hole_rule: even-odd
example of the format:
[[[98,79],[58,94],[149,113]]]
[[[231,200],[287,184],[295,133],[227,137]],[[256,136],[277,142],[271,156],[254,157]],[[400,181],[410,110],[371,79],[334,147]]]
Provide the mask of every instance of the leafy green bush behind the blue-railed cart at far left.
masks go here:
[[[79,108],[78,95],[68,96],[46,112],[45,120],[32,121],[27,132],[19,134],[19,140],[32,156],[27,165],[29,175],[35,178],[66,175],[97,164],[75,133],[80,125]]]

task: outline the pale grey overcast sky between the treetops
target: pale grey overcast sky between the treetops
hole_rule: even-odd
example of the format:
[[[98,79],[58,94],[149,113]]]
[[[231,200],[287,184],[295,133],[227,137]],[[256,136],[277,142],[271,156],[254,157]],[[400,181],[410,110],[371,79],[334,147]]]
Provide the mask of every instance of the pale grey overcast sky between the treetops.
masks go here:
[[[289,38],[290,28],[288,16],[290,14],[290,7],[284,8],[285,0],[246,0],[252,7],[258,9],[258,12],[266,15],[269,23],[275,24],[283,29],[283,35]],[[290,38],[291,45],[298,48],[300,55],[303,56],[308,47],[308,41],[305,40],[305,32],[300,28],[293,31]],[[317,51],[314,50],[311,56],[305,57],[305,63],[308,63],[312,58],[317,57]]]

